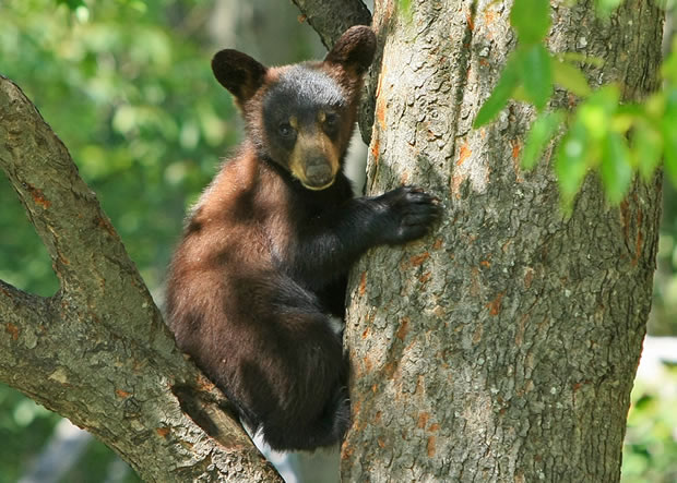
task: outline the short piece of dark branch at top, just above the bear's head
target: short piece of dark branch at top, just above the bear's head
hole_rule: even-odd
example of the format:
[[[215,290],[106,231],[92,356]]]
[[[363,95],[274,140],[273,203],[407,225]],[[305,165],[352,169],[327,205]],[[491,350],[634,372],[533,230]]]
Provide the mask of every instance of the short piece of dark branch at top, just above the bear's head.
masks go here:
[[[361,0],[292,0],[331,49],[341,34],[353,25],[371,25],[371,13]]]

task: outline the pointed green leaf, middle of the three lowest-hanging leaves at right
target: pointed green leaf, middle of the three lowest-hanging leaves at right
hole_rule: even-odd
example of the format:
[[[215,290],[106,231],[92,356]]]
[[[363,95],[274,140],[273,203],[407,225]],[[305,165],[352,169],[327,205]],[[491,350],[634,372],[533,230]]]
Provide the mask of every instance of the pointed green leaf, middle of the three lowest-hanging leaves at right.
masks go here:
[[[604,140],[599,173],[607,201],[617,205],[626,196],[632,181],[630,150],[626,138],[617,132],[610,131]]]

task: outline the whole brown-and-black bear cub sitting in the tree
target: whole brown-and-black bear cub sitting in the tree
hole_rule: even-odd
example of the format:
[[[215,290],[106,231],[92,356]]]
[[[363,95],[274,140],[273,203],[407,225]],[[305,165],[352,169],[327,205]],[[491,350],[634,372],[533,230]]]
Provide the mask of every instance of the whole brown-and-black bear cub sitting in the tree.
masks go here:
[[[403,186],[354,198],[342,171],[376,36],[355,26],[322,62],[266,68],[236,50],[212,61],[247,138],[195,205],[170,267],[179,347],[277,450],[342,440],[348,364],[336,317],[369,247],[423,237],[435,198]]]

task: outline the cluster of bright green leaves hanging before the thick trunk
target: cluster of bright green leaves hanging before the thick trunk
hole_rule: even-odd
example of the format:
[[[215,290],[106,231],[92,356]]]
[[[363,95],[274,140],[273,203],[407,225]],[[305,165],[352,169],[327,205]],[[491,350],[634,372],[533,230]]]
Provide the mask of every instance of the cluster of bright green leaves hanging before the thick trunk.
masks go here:
[[[598,0],[598,11],[609,14],[618,3]],[[591,59],[575,55],[557,57],[545,48],[550,26],[548,0],[516,0],[510,22],[519,45],[479,109],[475,128],[495,119],[510,98],[534,105],[539,113],[526,138],[524,169],[532,169],[550,140],[565,131],[555,169],[566,212],[571,209],[589,170],[598,170],[611,205],[623,200],[634,172],[649,180],[662,157],[668,179],[677,185],[677,38],[662,69],[665,88],[642,104],[622,104],[617,85],[591,89],[572,62]],[[577,109],[543,113],[554,84],[581,99]]]

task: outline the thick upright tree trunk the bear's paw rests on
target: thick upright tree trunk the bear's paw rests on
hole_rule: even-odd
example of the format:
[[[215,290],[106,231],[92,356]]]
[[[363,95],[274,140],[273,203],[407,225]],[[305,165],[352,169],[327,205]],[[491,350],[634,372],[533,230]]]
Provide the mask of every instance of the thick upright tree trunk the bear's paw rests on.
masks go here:
[[[421,185],[446,216],[424,241],[373,250],[354,270],[343,479],[618,481],[660,182],[636,182],[610,208],[590,176],[563,217],[551,149],[533,172],[519,168],[530,108],[471,129],[515,46],[509,8],[407,3],[375,8],[382,62],[367,190]],[[551,15],[551,50],[604,61],[586,68],[593,84],[617,81],[626,98],[657,87],[654,3],[630,0],[607,22],[593,2],[554,3]]]

